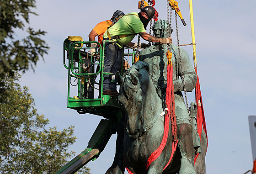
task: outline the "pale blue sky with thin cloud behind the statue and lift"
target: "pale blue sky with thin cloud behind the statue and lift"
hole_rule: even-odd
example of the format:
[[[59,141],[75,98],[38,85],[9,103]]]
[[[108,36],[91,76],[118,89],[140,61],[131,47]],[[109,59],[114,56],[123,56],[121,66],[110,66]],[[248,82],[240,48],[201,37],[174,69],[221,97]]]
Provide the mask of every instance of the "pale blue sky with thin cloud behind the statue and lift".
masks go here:
[[[166,0],[155,0],[159,19],[166,19]],[[178,0],[187,26],[178,21],[180,44],[191,43],[189,1]],[[256,33],[255,0],[193,0],[197,43],[197,69],[208,130],[207,174],[243,174],[252,169],[248,116],[256,115]],[[88,40],[91,29],[110,19],[113,12],[139,12],[138,0],[37,0],[39,16],[30,26],[48,33],[44,40],[50,50],[37,63],[35,73],[21,78],[35,99],[39,114],[59,130],[75,126],[78,138],[69,149],[83,151],[101,117],[79,115],[67,109],[67,75],[63,66],[63,41],[67,36]],[[173,17],[174,19],[174,17]],[[172,22],[172,26],[175,21]],[[23,32],[18,31],[20,37]],[[175,33],[172,35],[176,43]],[[134,39],[136,42],[136,39]],[[192,46],[182,47],[192,61]],[[194,101],[194,91],[189,103]],[[100,157],[88,163],[92,174],[103,174],[112,164],[116,135]]]

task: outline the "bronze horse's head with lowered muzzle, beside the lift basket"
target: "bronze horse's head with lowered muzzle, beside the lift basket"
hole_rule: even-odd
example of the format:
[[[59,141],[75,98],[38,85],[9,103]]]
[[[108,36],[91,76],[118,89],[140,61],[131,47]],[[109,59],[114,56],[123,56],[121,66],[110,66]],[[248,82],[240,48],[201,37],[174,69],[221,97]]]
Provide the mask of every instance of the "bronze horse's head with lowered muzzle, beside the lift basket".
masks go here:
[[[121,85],[118,100],[123,104],[127,113],[126,130],[129,137],[137,138],[144,129],[145,94],[148,90],[152,90],[149,84],[153,85],[148,63],[138,61],[124,71],[123,78],[117,74],[117,81]]]

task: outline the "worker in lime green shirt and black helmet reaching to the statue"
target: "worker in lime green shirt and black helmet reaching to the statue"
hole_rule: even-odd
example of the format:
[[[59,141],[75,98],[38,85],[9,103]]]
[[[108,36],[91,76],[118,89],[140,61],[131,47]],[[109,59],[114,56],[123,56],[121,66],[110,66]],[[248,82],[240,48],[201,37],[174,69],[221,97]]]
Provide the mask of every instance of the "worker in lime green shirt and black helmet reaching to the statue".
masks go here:
[[[145,29],[149,21],[155,16],[155,9],[146,6],[139,13],[132,12],[123,16],[113,26],[107,29],[103,35],[103,40],[117,41],[117,43],[107,42],[105,45],[104,72],[116,74],[121,67],[123,58],[123,45],[135,46],[133,38],[139,34],[144,40],[158,43],[171,43],[171,37],[159,38],[148,34]],[[147,44],[140,43],[140,47]],[[103,79],[103,95],[117,96],[117,84],[111,82],[112,75],[106,75]]]

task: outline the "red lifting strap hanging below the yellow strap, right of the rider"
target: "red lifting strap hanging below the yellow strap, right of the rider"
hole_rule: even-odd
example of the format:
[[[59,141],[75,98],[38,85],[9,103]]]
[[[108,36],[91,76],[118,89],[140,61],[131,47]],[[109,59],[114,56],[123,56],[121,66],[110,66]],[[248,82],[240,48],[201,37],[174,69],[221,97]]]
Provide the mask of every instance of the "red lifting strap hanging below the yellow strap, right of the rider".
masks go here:
[[[195,68],[195,71],[197,73],[197,68]],[[201,140],[202,130],[204,130],[205,135],[206,135],[207,147],[208,147],[208,136],[207,136],[207,130],[206,130],[204,111],[203,111],[203,100],[202,100],[198,76],[197,76],[197,84],[196,84],[196,103],[197,103],[197,132],[198,132],[200,140]],[[207,148],[206,148],[206,151],[207,151]],[[198,155],[199,155],[199,153],[197,153],[197,155],[194,159],[194,164],[196,163]]]

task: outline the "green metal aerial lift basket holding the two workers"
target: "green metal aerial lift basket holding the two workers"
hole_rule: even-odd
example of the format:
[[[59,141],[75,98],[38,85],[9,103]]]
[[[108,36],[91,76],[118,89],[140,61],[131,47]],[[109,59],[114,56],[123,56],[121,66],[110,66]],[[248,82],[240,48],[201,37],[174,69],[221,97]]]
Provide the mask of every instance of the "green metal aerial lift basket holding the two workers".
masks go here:
[[[107,42],[114,41],[103,41],[101,46],[99,42],[84,42],[82,37],[69,36],[64,40],[63,62],[64,67],[68,69],[67,107],[76,110],[80,114],[90,113],[104,118],[117,118],[123,110],[117,97],[102,95],[104,76],[112,74],[103,72],[104,47]],[[97,46],[91,47],[91,43],[96,43]],[[98,49],[94,52],[94,56],[88,53],[91,48]],[[123,57],[132,56],[134,60],[134,49],[127,48],[128,52],[132,50],[132,53],[123,53]],[[66,64],[66,62],[68,63]],[[121,74],[123,74],[123,64]]]

